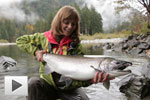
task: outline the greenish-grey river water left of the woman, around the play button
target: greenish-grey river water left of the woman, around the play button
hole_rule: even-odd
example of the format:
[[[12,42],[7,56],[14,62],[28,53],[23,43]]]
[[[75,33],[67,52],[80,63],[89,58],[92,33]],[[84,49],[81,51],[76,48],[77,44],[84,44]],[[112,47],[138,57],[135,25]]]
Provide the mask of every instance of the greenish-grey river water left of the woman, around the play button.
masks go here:
[[[39,63],[31,55],[22,52],[16,45],[0,46],[0,56],[9,56],[17,61],[17,66],[9,72],[0,73],[0,98],[1,100],[26,100],[22,96],[4,95],[4,76],[38,75]]]

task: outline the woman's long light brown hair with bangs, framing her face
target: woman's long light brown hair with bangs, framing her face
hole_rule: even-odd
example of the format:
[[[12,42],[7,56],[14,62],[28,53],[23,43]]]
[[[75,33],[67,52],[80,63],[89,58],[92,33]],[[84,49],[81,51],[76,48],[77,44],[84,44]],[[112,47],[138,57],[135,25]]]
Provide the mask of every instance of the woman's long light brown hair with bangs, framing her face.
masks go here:
[[[74,19],[77,22],[76,29],[69,37],[73,41],[79,42],[80,17],[78,11],[72,6],[64,6],[58,10],[51,24],[53,36],[55,38],[58,38],[62,34],[61,24],[64,21],[64,19]]]

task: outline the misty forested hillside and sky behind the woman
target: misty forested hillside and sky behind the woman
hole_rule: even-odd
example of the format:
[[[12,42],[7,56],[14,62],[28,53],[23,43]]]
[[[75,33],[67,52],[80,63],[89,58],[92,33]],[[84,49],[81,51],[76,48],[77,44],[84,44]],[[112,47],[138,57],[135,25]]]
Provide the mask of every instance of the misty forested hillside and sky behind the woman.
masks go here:
[[[53,17],[64,5],[79,11],[83,35],[146,32],[145,9],[137,0],[125,0],[124,4],[117,1],[122,0],[0,1],[0,42],[15,42],[19,36],[49,30]]]

